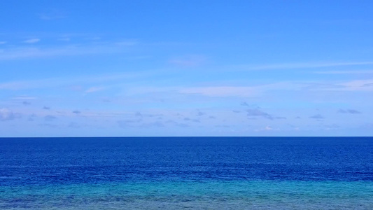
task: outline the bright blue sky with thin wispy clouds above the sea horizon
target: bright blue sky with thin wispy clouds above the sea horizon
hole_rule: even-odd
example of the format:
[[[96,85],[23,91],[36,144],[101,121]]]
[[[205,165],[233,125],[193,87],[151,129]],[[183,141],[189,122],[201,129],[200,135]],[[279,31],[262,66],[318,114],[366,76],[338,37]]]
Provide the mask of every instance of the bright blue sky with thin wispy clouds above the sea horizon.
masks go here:
[[[0,137],[373,136],[373,1],[0,8]]]

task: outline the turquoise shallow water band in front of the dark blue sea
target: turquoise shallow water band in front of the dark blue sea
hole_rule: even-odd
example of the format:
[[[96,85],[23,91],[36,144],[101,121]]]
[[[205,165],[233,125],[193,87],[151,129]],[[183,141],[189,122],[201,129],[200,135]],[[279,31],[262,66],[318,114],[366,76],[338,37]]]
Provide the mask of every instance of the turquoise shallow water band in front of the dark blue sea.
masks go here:
[[[0,209],[373,209],[366,181],[136,182],[5,187]]]

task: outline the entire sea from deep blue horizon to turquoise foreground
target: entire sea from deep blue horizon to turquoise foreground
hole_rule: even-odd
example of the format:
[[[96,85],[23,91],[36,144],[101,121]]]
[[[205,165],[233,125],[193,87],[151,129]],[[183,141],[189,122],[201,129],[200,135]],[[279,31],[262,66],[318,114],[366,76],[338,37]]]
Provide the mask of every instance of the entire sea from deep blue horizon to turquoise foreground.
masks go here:
[[[373,209],[373,137],[0,138],[0,209]]]

